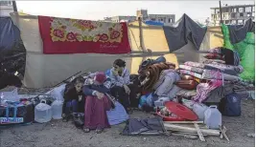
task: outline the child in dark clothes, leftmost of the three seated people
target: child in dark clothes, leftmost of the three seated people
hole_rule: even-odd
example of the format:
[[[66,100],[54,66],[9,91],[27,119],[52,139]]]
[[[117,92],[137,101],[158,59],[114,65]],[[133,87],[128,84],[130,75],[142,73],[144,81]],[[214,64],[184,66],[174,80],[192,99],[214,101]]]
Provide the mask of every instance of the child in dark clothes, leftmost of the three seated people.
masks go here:
[[[64,102],[62,107],[63,121],[68,121],[71,112],[82,112],[84,108],[84,96],[82,94],[82,86],[84,79],[80,76],[75,78],[71,83],[67,84],[64,90]]]

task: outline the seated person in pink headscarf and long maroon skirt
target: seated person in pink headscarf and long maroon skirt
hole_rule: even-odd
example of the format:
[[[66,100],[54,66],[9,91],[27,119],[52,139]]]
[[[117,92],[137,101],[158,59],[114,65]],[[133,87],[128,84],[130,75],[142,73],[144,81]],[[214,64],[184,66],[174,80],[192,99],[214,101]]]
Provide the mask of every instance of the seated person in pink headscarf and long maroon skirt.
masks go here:
[[[105,73],[96,73],[93,83],[83,86],[85,133],[96,129],[96,133],[100,134],[105,128],[110,127],[106,117],[106,111],[111,108],[111,101],[106,96],[110,91],[104,85],[105,79]]]

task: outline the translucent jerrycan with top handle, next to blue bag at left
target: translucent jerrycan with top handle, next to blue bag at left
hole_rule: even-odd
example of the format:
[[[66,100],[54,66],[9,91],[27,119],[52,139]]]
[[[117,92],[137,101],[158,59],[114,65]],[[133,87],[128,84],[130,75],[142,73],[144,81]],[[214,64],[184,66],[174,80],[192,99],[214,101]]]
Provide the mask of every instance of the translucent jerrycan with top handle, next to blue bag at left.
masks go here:
[[[35,121],[39,123],[48,122],[52,119],[52,107],[46,104],[45,99],[35,106]]]

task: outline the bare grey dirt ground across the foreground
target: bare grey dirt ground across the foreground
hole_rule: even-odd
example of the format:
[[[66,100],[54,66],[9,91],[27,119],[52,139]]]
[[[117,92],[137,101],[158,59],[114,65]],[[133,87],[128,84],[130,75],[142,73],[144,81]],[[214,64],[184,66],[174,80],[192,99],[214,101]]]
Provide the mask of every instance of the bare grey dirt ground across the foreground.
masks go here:
[[[242,109],[243,114],[239,117],[222,117],[222,123],[228,130],[229,144],[218,136],[207,136],[206,142],[183,136],[121,136],[125,124],[112,126],[100,135],[95,132],[85,134],[71,121],[52,120],[45,124],[1,127],[0,147],[253,147],[255,139],[247,134],[255,133],[254,100],[244,99]],[[151,115],[142,112],[133,112],[131,115],[141,118],[147,116]]]

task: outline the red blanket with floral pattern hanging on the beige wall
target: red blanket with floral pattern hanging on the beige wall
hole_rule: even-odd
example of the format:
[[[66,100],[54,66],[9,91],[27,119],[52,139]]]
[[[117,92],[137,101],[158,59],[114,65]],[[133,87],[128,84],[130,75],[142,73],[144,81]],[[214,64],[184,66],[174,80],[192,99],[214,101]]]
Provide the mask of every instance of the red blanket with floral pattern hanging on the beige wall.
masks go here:
[[[43,52],[128,53],[127,23],[38,16]]]

